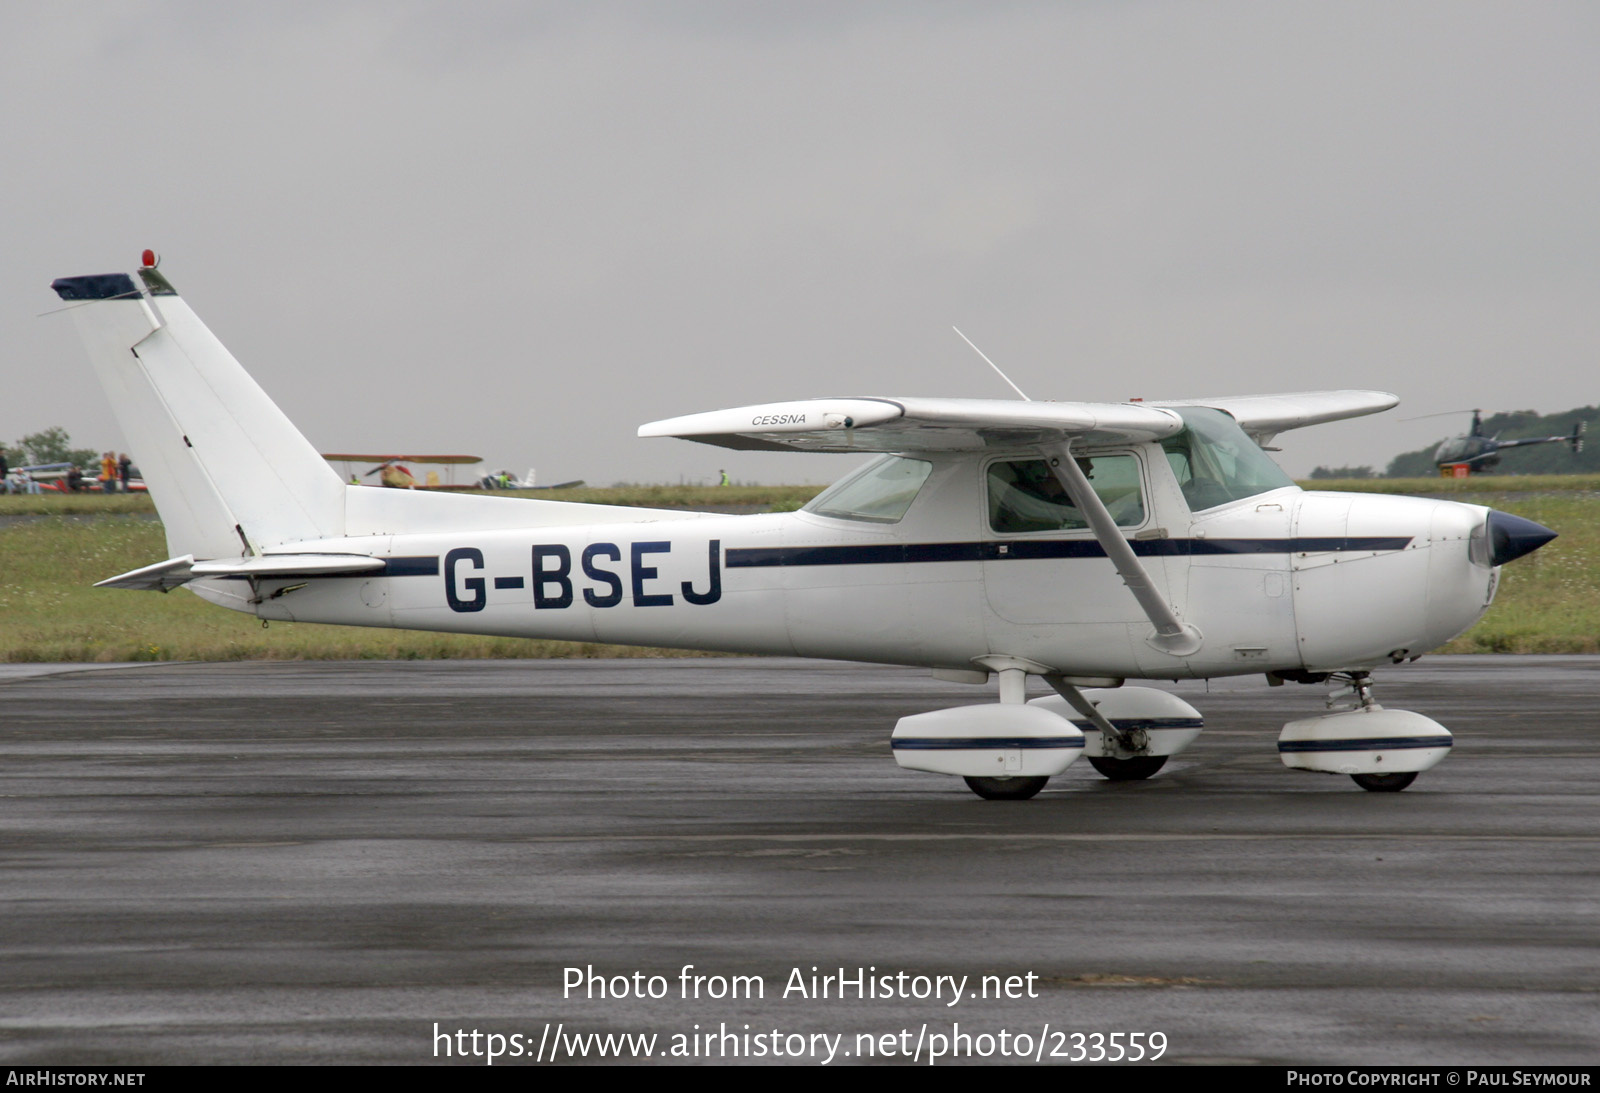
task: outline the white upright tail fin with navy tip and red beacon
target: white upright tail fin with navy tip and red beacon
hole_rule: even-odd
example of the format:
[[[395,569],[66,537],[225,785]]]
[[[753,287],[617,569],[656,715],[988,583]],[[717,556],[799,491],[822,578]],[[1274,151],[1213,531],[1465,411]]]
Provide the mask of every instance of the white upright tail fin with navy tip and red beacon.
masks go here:
[[[344,533],[344,483],[146,253],[62,277],[70,312],[166,525],[171,554],[224,559]]]

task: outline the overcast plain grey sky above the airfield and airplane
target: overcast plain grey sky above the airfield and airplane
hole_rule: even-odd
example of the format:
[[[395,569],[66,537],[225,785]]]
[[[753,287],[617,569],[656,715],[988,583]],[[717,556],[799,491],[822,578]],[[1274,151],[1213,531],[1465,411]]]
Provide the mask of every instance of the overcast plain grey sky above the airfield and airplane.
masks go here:
[[[638,440],[826,394],[1600,402],[1600,5],[0,6],[0,440],[123,446],[50,280],[163,272],[323,450],[826,482]]]

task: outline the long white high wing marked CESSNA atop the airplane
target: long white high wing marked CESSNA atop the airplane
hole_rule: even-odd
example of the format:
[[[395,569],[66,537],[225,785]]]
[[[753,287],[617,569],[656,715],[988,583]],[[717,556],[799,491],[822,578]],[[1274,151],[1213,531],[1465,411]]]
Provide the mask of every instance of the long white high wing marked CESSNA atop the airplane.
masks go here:
[[[806,398],[712,410],[640,426],[640,437],[678,437],[750,451],[982,451],[1160,440],[1184,427],[1173,406],[1213,406],[1256,443],[1288,429],[1389,410],[1382,390],[1318,390],[1178,402],[1011,402],[1000,398]]]

